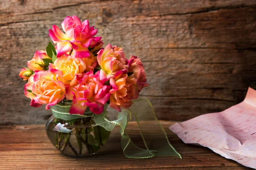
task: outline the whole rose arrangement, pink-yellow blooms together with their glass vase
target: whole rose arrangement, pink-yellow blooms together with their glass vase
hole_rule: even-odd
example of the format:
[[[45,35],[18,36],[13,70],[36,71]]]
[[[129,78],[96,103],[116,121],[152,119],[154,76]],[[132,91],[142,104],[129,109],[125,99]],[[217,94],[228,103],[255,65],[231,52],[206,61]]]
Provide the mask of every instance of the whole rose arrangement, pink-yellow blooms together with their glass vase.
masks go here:
[[[129,108],[148,86],[140,58],[127,59],[121,47],[111,44],[103,48],[102,37],[96,37],[97,29],[88,20],[66,17],[61,26],[64,32],[55,25],[49,29],[55,46],[49,43],[45,51],[36,51],[21,69],[19,76],[28,81],[25,96],[32,107],[46,104],[46,109],[52,109],[47,135],[61,152],[69,154],[69,148],[75,155],[95,153],[115,125],[121,127],[125,150],[132,143],[125,133],[127,117],[134,113]],[[119,112],[116,121],[108,120],[108,105]],[[72,146],[72,133],[76,133],[76,146]],[[150,150],[148,155],[144,157],[154,156]]]

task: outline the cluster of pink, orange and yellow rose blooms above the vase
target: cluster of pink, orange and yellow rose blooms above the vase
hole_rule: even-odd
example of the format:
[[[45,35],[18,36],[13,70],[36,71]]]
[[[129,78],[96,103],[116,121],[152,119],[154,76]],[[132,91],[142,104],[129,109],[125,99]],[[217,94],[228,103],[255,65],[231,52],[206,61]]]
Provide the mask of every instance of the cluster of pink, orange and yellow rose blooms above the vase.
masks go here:
[[[131,107],[145,86],[146,75],[142,62],[136,56],[126,59],[121,47],[108,44],[102,48],[97,29],[88,20],[81,23],[76,16],[66,17],[61,23],[65,33],[53,25],[51,43],[46,52],[36,51],[20,77],[28,80],[24,87],[31,106],[46,109],[64,99],[72,100],[70,114],[83,115],[87,107],[101,114],[104,105],[113,109]]]

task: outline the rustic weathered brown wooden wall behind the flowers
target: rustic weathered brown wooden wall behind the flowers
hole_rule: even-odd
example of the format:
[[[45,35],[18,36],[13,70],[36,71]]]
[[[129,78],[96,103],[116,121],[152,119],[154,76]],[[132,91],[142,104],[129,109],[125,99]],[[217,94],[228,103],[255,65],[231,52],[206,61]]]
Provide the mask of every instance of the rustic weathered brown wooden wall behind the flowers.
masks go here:
[[[0,125],[44,124],[18,77],[52,24],[88,19],[105,44],[140,57],[160,119],[218,112],[256,88],[256,0],[0,0]]]

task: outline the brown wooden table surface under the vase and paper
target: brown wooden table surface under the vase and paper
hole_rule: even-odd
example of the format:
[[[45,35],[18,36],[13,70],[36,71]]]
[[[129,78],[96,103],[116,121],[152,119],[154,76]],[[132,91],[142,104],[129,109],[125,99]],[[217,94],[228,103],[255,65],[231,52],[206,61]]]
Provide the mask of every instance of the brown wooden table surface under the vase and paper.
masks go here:
[[[87,157],[67,157],[50,143],[44,125],[1,126],[0,170],[250,170],[241,164],[226,159],[206,147],[184,144],[175,133],[168,130],[171,121],[161,121],[166,128],[170,142],[182,155],[175,157],[154,157],[147,159],[126,158],[120,145],[119,128],[116,127],[99,153]],[[148,132],[154,132],[155,123],[148,125]],[[128,133],[134,143],[140,140],[140,133],[130,122]],[[157,138],[157,133],[154,135]],[[152,138],[154,140],[154,138]],[[139,144],[140,145],[140,144]],[[141,145],[142,146],[142,145]]]

